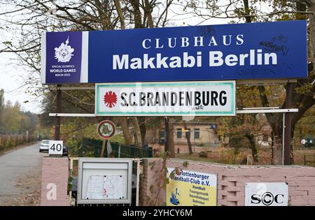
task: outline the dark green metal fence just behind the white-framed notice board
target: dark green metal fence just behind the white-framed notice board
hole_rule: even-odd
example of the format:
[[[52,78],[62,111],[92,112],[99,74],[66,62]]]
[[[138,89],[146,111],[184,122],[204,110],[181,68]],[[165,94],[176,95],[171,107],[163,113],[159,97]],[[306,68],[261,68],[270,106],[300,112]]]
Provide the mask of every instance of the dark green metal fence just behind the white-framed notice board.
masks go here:
[[[107,144],[107,143],[106,143]],[[78,156],[100,157],[102,151],[103,140],[83,138],[78,147]],[[118,142],[111,142],[112,154],[116,158],[144,158],[153,157],[152,147],[137,147],[135,145],[122,145]],[[105,145],[104,157],[108,156],[107,147]]]

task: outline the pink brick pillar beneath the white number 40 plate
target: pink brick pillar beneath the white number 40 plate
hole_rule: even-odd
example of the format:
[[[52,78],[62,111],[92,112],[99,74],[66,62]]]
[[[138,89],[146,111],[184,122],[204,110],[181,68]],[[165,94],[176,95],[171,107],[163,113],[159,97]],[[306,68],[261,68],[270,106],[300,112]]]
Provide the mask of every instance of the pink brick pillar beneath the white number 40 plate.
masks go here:
[[[41,206],[65,206],[68,186],[68,158],[43,157]]]

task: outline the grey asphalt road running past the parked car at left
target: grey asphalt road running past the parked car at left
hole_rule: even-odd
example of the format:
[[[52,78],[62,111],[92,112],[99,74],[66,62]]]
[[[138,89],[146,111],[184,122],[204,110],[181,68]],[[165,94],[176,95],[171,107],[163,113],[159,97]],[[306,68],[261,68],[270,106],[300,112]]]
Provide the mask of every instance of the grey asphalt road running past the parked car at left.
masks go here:
[[[18,179],[29,173],[38,177],[41,175],[41,158],[44,154],[38,152],[39,145],[40,142],[37,142],[0,156],[0,205],[10,197],[32,190],[21,188]]]

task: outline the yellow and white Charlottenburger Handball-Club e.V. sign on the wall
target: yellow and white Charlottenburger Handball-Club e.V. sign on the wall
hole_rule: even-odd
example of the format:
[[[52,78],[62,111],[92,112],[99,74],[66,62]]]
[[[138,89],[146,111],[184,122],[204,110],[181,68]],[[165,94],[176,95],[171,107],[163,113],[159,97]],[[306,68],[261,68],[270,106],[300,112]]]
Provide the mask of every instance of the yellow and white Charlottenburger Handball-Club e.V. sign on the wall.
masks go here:
[[[173,172],[167,184],[167,206],[216,206],[217,176],[209,173],[198,173],[167,168],[167,175]]]

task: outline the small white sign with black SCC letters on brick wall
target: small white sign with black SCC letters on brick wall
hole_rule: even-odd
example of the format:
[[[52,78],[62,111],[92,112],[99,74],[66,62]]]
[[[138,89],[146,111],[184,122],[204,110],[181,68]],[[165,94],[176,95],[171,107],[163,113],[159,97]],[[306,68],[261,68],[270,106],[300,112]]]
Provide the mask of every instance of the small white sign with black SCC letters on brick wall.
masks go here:
[[[246,206],[288,206],[286,182],[251,182],[245,184]]]

